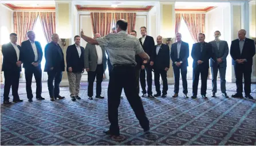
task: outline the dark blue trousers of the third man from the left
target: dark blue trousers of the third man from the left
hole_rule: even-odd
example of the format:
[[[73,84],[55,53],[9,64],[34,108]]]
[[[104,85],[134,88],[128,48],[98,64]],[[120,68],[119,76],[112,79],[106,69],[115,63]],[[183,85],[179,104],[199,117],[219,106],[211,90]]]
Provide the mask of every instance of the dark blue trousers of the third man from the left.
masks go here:
[[[58,97],[60,94],[60,82],[62,79],[62,71],[60,70],[52,70],[47,72],[48,73],[48,90],[50,97]],[[53,86],[54,80],[54,86]]]

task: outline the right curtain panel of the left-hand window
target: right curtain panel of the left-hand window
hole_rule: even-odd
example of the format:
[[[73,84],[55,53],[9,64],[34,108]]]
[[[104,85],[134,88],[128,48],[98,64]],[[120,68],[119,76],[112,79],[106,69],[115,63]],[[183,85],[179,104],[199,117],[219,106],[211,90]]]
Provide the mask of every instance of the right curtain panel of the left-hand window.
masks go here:
[[[52,34],[56,31],[55,12],[39,12],[39,18],[47,42],[52,41]]]

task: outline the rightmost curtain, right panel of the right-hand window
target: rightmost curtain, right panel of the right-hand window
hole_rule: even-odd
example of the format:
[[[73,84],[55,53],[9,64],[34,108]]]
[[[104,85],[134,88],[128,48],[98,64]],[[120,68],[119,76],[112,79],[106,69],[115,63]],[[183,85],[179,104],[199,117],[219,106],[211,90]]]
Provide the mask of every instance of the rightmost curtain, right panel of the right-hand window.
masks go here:
[[[199,42],[198,34],[205,31],[205,14],[183,14],[184,21],[195,42]]]

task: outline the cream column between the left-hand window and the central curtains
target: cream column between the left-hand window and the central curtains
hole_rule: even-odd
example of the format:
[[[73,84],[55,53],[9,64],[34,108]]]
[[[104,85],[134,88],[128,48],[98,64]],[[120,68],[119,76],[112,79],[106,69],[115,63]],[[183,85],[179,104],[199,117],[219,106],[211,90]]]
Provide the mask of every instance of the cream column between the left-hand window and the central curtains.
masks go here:
[[[60,38],[66,39],[66,46],[62,47],[61,41],[59,42],[62,51],[64,53],[64,60],[66,66],[66,49],[69,45],[72,45],[72,3],[71,2],[56,2],[56,33]],[[63,72],[62,81],[60,86],[68,86],[68,74]]]

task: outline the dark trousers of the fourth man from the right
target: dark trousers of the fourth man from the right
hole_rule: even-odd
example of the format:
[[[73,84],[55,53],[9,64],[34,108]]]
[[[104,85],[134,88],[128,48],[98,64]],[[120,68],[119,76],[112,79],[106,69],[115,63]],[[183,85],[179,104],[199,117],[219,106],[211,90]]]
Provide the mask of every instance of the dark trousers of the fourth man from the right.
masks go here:
[[[180,73],[182,74],[182,86],[183,86],[183,93],[187,94],[187,66],[173,66],[174,68],[174,93],[179,93],[179,85],[180,85]]]

